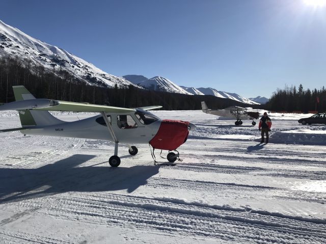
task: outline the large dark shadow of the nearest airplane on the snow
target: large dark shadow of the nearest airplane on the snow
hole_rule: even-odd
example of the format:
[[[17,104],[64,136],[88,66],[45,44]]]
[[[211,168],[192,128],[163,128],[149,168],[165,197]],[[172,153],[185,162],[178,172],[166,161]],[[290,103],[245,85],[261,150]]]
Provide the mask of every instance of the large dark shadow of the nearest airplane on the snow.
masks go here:
[[[36,169],[0,168],[0,203],[65,192],[101,192],[126,189],[128,193],[146,185],[159,166],[117,168],[108,165],[77,167],[96,156],[73,155]]]

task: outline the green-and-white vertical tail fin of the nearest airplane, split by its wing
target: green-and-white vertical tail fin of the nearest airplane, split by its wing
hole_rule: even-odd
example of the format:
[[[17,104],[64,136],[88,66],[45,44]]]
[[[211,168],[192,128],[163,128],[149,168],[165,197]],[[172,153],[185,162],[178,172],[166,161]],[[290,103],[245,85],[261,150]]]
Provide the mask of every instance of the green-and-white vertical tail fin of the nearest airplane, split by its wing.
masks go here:
[[[12,87],[14,90],[15,100],[29,100],[35,97],[23,85]],[[48,111],[37,110],[19,110],[19,119],[21,126],[49,126],[63,123],[62,120],[51,115]]]

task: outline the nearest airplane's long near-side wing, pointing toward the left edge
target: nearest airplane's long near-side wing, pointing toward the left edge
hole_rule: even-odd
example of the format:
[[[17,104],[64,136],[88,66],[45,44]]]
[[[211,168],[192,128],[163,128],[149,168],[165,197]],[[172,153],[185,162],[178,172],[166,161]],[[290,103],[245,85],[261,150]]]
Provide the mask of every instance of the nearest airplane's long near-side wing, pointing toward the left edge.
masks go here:
[[[1,105],[0,111],[4,110],[46,110],[46,111],[71,111],[71,112],[107,112],[107,113],[128,113],[135,111],[131,108],[119,108],[89,103],[75,103],[50,99],[29,99]]]

